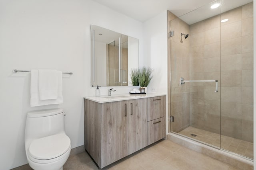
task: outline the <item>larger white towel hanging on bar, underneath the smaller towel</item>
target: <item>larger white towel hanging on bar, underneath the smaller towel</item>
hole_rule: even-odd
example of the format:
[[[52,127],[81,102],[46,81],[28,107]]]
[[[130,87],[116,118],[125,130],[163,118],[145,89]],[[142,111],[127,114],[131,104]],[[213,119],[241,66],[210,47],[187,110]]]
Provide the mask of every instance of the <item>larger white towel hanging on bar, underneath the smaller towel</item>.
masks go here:
[[[30,106],[43,106],[49,104],[62,104],[62,72],[57,71],[57,81],[58,81],[58,98],[50,100],[40,100],[39,89],[38,89],[38,70],[31,71],[31,83],[30,83]]]

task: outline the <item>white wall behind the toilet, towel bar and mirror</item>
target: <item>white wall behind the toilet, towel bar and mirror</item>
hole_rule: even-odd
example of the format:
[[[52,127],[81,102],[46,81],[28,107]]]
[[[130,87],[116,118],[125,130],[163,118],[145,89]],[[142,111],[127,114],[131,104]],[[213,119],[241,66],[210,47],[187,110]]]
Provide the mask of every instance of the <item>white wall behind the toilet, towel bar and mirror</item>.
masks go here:
[[[0,169],[27,163],[24,149],[26,113],[62,107],[72,148],[84,145],[83,96],[90,87],[90,24],[140,40],[142,23],[90,0],[0,1]],[[71,71],[63,77],[64,104],[30,107],[30,73],[37,68]],[[116,94],[132,87],[118,87]],[[101,88],[107,94],[108,88]]]

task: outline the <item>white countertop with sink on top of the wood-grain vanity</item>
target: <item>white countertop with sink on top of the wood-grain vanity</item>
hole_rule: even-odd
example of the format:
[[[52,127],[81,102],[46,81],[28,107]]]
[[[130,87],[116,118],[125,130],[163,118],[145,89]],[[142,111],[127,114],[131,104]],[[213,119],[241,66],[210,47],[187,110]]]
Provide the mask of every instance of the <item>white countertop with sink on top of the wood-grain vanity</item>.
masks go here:
[[[159,94],[159,93],[147,93],[147,94],[117,94],[112,96],[86,96],[84,99],[92,100],[98,103],[107,103],[107,102],[118,102],[122,100],[133,100],[133,99],[140,99],[140,98],[151,98],[157,96],[166,96],[166,94]]]

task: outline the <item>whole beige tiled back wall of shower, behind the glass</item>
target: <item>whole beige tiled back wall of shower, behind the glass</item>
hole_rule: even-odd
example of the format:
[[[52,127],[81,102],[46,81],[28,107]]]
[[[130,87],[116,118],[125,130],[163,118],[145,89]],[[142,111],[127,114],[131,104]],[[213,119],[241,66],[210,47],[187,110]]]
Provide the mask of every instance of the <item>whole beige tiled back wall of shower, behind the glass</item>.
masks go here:
[[[189,29],[190,125],[253,142],[253,3]]]

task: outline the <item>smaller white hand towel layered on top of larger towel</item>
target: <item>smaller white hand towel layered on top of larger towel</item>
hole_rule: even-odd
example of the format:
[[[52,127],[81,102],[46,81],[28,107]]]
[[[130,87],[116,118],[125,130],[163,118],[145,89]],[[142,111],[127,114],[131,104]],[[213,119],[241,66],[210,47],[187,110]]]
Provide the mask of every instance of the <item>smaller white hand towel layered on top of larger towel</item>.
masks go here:
[[[38,89],[40,100],[57,99],[57,70],[38,70]]]

